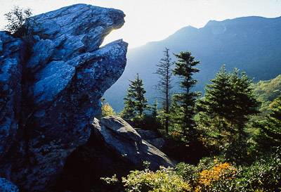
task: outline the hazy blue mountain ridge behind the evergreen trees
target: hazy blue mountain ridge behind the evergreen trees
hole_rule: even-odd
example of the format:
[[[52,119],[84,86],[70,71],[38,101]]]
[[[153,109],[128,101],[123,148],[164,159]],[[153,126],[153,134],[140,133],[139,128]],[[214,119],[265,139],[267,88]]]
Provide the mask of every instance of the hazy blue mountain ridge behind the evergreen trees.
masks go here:
[[[272,79],[281,74],[281,17],[253,16],[221,22],[211,20],[200,29],[183,27],[163,41],[129,49],[124,74],[104,95],[112,108],[122,110],[128,79],[134,79],[137,72],[152,103],[157,96],[157,91],[152,87],[158,80],[153,73],[165,47],[170,49],[171,55],[188,50],[195,60],[201,60],[197,65],[201,71],[194,76],[198,80],[195,91],[204,91],[205,84],[209,83],[208,78],[214,78],[223,64],[226,64],[227,70],[239,68],[247,72],[255,81]]]

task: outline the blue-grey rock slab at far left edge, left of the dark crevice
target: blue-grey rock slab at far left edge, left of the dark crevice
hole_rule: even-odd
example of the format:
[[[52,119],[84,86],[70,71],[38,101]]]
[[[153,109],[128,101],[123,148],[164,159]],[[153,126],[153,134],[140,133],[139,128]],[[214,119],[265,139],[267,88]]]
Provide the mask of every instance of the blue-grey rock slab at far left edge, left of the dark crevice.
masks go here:
[[[0,160],[18,131],[24,44],[0,32]]]

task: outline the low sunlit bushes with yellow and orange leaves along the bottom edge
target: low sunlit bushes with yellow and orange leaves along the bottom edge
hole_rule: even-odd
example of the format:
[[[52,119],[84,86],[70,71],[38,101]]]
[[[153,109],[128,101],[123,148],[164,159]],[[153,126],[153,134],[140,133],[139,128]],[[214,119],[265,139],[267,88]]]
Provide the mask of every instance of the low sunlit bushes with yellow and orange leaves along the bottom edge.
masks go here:
[[[115,180],[116,177],[107,179]],[[197,166],[131,171],[122,177],[126,191],[281,191],[281,153],[264,154],[251,165],[231,165],[220,157],[202,158]]]

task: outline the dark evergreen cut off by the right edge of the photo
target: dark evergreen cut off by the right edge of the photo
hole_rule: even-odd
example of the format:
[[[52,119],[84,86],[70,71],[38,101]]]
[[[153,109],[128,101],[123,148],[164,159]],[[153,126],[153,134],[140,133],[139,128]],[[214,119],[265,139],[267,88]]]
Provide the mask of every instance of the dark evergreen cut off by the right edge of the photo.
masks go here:
[[[281,96],[270,104],[271,113],[266,120],[259,122],[260,133],[256,142],[262,149],[268,151],[270,147],[281,146]]]

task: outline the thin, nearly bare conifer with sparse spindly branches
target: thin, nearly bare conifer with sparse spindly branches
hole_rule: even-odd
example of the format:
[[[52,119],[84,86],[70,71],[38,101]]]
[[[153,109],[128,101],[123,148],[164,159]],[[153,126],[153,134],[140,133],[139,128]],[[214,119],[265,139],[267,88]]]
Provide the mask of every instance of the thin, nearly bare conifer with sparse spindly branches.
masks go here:
[[[156,89],[159,91],[159,98],[162,100],[162,114],[164,116],[164,127],[166,129],[166,133],[168,133],[169,127],[169,108],[171,106],[171,89],[173,88],[171,85],[172,65],[173,63],[171,62],[169,49],[165,48],[164,57],[159,61],[159,64],[156,65],[158,69],[155,74],[159,75],[159,81],[156,85]]]

